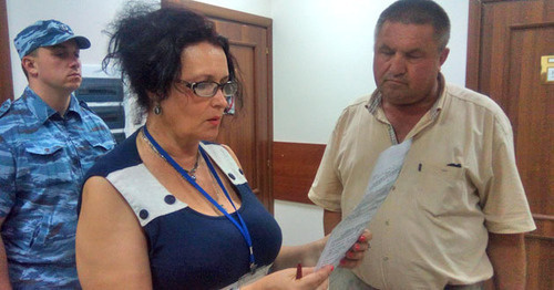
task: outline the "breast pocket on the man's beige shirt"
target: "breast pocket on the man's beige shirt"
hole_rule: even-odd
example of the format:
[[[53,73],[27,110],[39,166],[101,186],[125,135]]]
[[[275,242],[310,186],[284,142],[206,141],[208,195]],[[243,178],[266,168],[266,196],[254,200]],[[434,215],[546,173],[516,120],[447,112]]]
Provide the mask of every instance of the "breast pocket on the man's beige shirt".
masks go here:
[[[419,208],[441,216],[468,207],[465,168],[461,164],[422,164],[418,174],[414,194]]]

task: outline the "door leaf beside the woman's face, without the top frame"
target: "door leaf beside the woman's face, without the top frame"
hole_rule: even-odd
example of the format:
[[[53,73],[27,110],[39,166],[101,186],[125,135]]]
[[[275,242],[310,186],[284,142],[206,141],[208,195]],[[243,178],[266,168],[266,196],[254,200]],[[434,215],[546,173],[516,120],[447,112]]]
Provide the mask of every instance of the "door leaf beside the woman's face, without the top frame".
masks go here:
[[[235,115],[227,115],[217,138],[228,144],[237,154],[246,177],[266,208],[273,210],[270,186],[271,170],[267,97],[267,31],[265,28],[245,25],[213,19],[217,32],[229,39],[230,51],[238,62],[240,77],[245,84],[243,105],[237,105]]]

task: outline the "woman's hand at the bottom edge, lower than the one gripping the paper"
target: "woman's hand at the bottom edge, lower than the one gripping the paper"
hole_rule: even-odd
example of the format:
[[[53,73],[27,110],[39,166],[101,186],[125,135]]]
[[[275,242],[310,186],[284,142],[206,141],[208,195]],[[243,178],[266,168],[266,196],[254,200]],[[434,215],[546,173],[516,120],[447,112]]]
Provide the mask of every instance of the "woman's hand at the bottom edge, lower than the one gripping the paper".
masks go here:
[[[242,287],[242,290],[261,290],[261,289],[293,289],[293,290],[327,290],[329,286],[329,275],[332,266],[325,266],[318,271],[314,267],[302,268],[302,278],[296,279],[296,269],[288,268],[273,272],[256,282]]]

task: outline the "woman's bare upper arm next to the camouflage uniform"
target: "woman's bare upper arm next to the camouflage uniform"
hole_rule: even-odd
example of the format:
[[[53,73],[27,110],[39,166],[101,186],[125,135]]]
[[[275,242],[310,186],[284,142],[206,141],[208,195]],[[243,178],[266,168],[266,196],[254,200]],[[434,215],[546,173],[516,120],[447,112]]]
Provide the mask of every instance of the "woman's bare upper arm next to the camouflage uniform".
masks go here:
[[[75,250],[83,289],[152,289],[141,225],[103,177],[92,177],[84,184]]]

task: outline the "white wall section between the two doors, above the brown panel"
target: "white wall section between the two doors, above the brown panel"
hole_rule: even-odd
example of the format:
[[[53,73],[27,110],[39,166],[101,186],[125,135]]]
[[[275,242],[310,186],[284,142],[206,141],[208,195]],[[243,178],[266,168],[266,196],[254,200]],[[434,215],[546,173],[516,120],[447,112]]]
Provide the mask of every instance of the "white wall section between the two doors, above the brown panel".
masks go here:
[[[274,0],[274,139],[325,144],[341,110],[376,85],[373,28],[392,0]],[[447,80],[464,85],[466,0],[440,0],[452,21]]]

